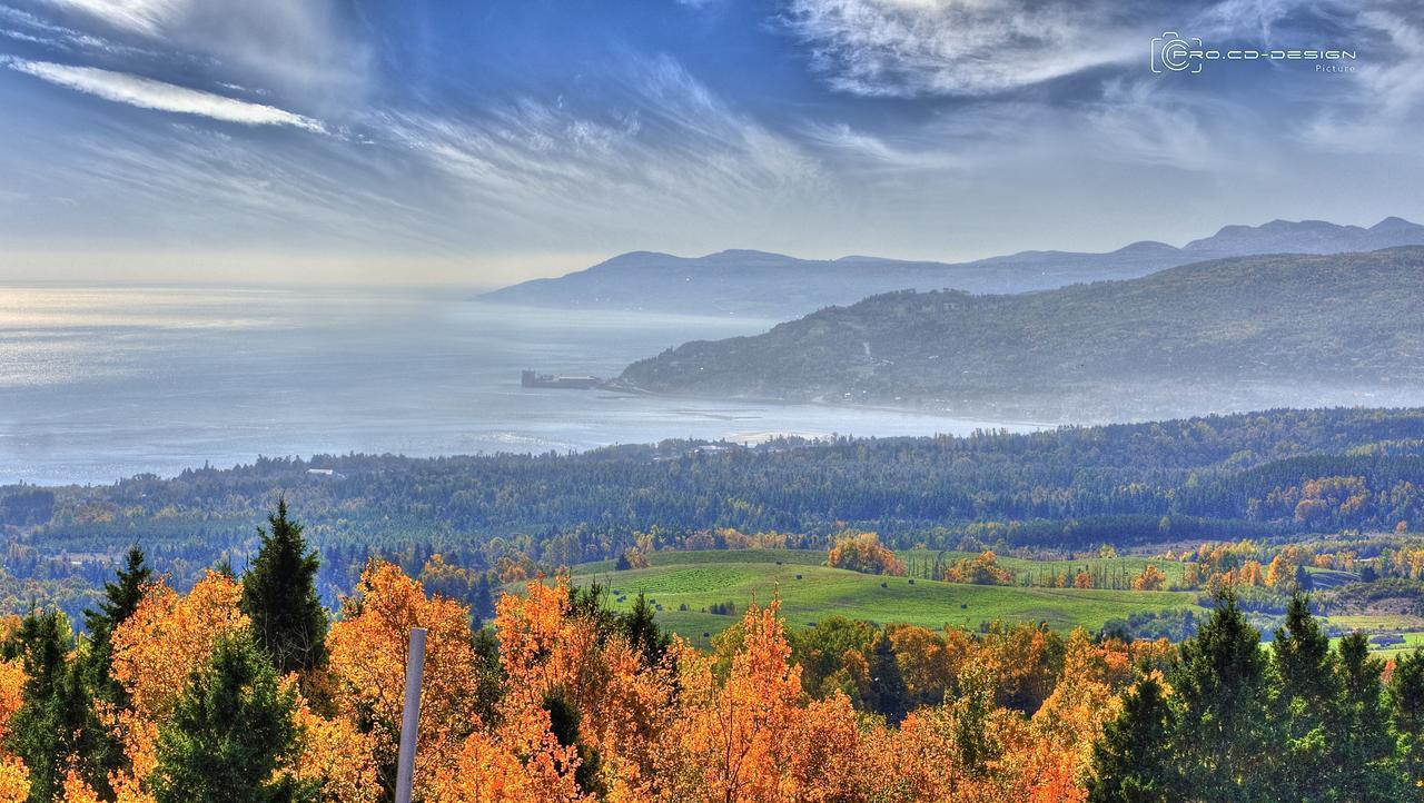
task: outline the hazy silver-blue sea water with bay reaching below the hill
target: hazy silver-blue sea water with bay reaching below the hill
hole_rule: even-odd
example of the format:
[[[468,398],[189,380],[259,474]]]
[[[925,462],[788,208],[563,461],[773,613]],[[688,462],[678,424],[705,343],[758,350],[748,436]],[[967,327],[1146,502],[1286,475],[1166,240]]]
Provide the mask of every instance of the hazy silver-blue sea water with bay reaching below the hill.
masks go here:
[[[389,289],[0,286],[0,483],[259,454],[582,450],[668,437],[967,433],[993,421],[520,387],[617,376],[772,320],[562,312]]]

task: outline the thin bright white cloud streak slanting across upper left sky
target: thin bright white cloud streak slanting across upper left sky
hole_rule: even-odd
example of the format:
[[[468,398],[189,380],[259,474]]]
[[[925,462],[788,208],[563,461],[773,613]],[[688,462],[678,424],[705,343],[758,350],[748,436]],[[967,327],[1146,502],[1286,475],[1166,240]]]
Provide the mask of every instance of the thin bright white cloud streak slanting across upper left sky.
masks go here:
[[[51,84],[140,108],[194,114],[244,125],[293,125],[308,131],[323,131],[320,121],[282,108],[239,101],[128,73],[24,58],[6,58],[0,63]]]

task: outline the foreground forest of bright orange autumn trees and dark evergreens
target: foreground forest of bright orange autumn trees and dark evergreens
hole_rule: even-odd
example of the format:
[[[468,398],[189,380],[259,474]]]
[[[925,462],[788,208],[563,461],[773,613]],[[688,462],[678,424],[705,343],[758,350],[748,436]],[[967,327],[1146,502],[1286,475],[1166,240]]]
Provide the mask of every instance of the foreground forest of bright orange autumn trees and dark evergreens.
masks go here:
[[[131,550],[80,635],[46,608],[0,624],[0,799],[392,800],[412,626],[427,803],[1424,799],[1424,651],[1333,648],[1299,592],[1266,649],[1227,588],[1180,646],[790,634],[773,598],[701,651],[562,575],[476,631],[372,561],[332,615],[285,505],[259,540],[185,594]]]

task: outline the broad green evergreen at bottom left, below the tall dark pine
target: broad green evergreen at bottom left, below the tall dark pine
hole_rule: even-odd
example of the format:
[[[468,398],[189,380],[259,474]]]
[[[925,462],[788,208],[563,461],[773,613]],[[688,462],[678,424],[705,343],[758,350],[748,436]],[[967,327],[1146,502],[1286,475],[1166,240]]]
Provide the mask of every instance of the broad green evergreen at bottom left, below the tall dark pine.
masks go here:
[[[286,803],[303,789],[279,773],[298,738],[295,693],[282,691],[248,639],[228,639],[195,671],[158,730],[158,803]]]

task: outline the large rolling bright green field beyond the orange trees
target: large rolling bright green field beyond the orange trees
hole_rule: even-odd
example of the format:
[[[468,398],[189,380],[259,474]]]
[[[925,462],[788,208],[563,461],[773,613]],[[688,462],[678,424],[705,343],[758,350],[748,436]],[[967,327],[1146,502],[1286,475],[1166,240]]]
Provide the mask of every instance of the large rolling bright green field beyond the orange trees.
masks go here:
[[[1195,608],[1190,592],[1082,591],[1075,588],[1018,588],[961,585],[903,577],[877,577],[820,565],[822,551],[736,550],[655,552],[652,567],[614,571],[612,561],[574,567],[575,582],[601,582],[618,609],[639,592],[661,605],[658,621],[696,644],[716,635],[739,616],[703,612],[718,602],[735,602],[738,612],[756,599],[780,595],[782,614],[793,628],[842,615],[877,624],[907,622],[927,628],[978,628],[981,622],[1045,622],[1058,631],[1078,625],[1101,628],[1112,618],[1138,611]],[[622,599],[618,602],[617,599]],[[686,611],[679,609],[686,605]]]

